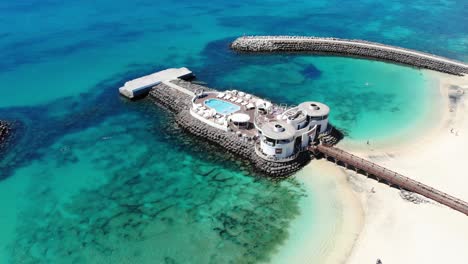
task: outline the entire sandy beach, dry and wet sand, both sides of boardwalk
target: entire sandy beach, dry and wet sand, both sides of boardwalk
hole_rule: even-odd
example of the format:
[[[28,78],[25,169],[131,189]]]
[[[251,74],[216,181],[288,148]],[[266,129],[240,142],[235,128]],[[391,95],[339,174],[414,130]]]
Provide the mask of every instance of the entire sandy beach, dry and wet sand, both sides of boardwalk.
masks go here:
[[[418,130],[371,145],[345,140],[338,147],[466,201],[468,77],[425,74],[435,84],[428,87],[435,89],[434,107]],[[455,106],[449,93],[462,91]],[[325,160],[314,160],[296,178],[311,193],[319,191],[323,207],[315,211],[324,215],[315,217],[330,219],[334,214],[337,219],[333,231],[328,224],[317,234],[307,227],[313,216],[303,205],[303,215],[291,224],[290,238],[275,263],[373,264],[381,259],[384,264],[428,264],[468,259],[468,216],[460,212],[425,198],[419,204],[404,200],[398,189]],[[317,236],[327,234],[327,244],[317,244]]]

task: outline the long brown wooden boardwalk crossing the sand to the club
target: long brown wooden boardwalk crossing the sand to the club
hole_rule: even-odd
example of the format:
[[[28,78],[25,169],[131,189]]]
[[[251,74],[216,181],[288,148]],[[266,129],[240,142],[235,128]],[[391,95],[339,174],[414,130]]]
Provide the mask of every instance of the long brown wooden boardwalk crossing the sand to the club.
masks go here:
[[[347,168],[354,168],[356,172],[362,171],[367,175],[373,175],[377,179],[384,180],[390,185],[395,185],[408,191],[418,193],[454,210],[462,212],[465,215],[468,215],[468,203],[465,201],[462,201],[418,181],[412,180],[399,173],[388,170],[382,166],[357,157],[341,149],[321,144],[312,148],[312,150],[321,152],[326,158],[331,157],[335,160],[335,162],[342,162]]]

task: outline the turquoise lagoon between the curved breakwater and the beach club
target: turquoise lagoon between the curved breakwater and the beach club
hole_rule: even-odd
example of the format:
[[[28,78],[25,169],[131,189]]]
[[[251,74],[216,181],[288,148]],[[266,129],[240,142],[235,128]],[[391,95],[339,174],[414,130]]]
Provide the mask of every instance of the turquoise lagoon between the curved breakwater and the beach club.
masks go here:
[[[283,58],[269,67],[243,67],[221,84],[290,105],[324,102],[333,125],[358,141],[382,141],[417,129],[434,101],[430,77],[417,69],[339,57]]]

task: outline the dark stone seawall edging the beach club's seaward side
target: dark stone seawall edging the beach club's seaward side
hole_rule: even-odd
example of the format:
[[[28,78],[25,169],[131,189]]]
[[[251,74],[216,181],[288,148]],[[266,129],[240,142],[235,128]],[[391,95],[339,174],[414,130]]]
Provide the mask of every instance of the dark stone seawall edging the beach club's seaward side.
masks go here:
[[[182,80],[176,80],[173,83],[193,92],[198,89],[213,91],[213,89],[208,87]],[[188,95],[163,83],[155,86],[149,95],[152,100],[173,113],[177,124],[182,128],[225,148],[243,159],[249,160],[254,169],[262,174],[270,177],[286,177],[301,169],[311,159],[308,152],[302,152],[295,160],[289,162],[264,160],[255,154],[254,141],[247,141],[244,138],[238,137],[235,133],[214,128],[192,117],[189,112],[192,98]]]

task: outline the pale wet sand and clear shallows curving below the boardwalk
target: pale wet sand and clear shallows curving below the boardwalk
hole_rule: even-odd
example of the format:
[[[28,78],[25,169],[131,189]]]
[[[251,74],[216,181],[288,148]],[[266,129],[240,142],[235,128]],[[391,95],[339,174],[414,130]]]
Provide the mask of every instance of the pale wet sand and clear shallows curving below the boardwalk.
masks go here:
[[[302,213],[272,263],[343,263],[363,223],[361,203],[346,173],[331,162],[314,160],[295,178],[309,196],[301,201]]]

